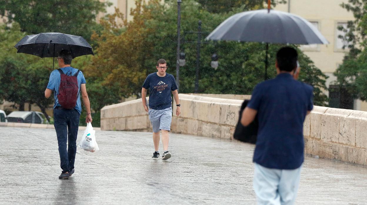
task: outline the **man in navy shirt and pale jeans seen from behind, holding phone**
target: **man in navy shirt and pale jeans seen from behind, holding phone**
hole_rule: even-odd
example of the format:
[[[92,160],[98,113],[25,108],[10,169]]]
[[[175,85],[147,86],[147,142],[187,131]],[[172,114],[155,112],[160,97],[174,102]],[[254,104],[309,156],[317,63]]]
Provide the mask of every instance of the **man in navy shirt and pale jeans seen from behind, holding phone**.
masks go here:
[[[297,51],[281,48],[277,76],[256,85],[241,123],[258,115],[254,190],[258,204],[294,204],[304,161],[303,122],[313,108],[313,88],[298,77]]]

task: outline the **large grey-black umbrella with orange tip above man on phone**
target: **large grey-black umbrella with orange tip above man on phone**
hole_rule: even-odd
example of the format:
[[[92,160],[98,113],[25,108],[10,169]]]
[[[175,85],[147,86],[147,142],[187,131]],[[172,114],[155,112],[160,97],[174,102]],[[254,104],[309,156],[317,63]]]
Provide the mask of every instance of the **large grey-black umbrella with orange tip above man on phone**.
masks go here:
[[[328,44],[326,38],[304,18],[268,9],[235,14],[213,30],[206,40],[231,40],[266,43],[265,80],[269,43]]]

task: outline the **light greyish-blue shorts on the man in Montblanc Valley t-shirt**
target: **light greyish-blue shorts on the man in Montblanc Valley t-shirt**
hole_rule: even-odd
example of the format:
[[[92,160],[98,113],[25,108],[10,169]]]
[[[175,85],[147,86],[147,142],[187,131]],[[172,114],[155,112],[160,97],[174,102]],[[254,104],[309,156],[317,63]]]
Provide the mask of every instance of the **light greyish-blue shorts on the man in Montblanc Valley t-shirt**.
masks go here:
[[[172,121],[172,107],[168,107],[163,110],[149,109],[149,120],[152,123],[153,132],[159,132],[159,130],[171,130]]]

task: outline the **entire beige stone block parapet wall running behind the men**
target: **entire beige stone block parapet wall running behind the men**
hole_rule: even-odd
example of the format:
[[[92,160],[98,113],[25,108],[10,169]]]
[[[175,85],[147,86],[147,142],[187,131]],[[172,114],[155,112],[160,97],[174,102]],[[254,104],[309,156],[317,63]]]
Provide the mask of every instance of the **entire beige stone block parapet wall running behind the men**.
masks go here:
[[[175,133],[233,139],[242,100],[179,94]],[[175,113],[175,108],[173,113]],[[367,112],[315,106],[304,123],[305,153],[367,166]],[[141,99],[103,107],[102,130],[151,132]]]

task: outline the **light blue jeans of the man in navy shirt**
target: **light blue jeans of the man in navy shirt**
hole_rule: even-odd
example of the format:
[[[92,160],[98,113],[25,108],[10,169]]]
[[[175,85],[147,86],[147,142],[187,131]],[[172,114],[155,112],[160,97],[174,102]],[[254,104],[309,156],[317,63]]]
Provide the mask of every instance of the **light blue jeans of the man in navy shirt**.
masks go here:
[[[254,190],[257,204],[294,204],[302,165],[297,169],[269,169],[257,163],[254,166]]]

